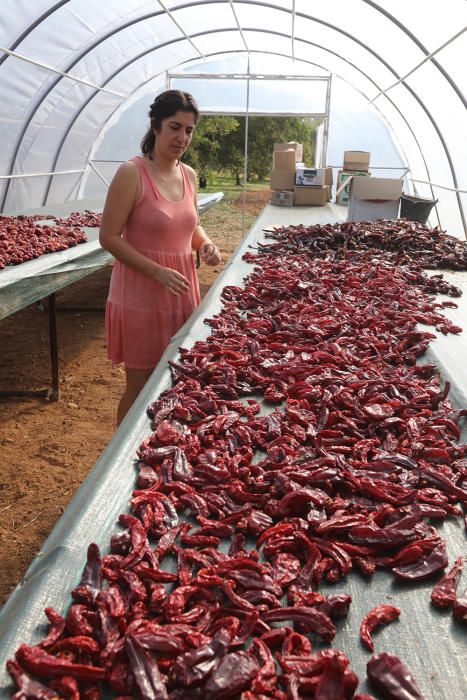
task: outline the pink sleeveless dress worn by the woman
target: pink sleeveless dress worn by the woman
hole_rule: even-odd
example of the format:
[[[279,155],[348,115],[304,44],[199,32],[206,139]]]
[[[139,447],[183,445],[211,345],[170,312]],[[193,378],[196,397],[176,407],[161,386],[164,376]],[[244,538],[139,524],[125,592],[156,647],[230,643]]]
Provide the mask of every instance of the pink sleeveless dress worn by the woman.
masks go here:
[[[180,163],[184,195],[172,202],[157,189],[144,159],[137,156],[141,197],[122,232],[131,245],[159,265],[184,275],[190,289],[171,294],[159,282],[118,260],[112,270],[105,313],[107,354],[131,369],[152,369],[171,337],[200,302],[191,239],[198,223],[188,173]]]

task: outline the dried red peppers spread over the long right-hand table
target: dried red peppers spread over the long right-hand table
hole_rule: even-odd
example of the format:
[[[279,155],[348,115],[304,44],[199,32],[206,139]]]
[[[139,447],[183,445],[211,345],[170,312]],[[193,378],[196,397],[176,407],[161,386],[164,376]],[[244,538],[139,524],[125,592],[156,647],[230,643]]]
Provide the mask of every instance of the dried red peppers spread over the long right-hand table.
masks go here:
[[[256,267],[224,288],[211,335],[171,363],[131,512],[108,554],[89,546],[66,615],[48,608],[47,637],[8,662],[15,697],[368,700],[332,644],[351,597],[320,592],[351,571],[438,574],[433,603],[467,619],[463,558],[449,564],[431,524],[465,514],[467,410],[416,364],[434,337],[417,324],[461,331],[432,293],[460,292],[384,246],[349,235],[325,250],[302,234],[247,254]],[[369,611],[362,645],[399,615]],[[379,697],[423,697],[397,655],[376,653],[367,673]]]

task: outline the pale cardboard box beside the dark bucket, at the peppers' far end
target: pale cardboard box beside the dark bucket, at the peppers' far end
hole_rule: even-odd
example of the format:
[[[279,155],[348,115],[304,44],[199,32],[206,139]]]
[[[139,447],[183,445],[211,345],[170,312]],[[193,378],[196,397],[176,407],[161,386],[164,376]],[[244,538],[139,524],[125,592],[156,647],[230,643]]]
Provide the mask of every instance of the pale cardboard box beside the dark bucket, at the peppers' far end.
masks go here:
[[[347,221],[395,219],[399,213],[402,180],[389,177],[354,177]]]

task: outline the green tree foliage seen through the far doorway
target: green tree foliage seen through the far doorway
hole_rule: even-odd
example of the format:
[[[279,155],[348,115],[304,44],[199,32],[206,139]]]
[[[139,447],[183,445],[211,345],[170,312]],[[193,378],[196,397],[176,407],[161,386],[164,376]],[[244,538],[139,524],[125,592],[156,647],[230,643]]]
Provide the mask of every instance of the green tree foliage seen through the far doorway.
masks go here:
[[[264,180],[272,168],[274,143],[298,141],[303,160],[314,163],[316,128],[320,120],[310,117],[249,117],[248,180]],[[244,171],[245,117],[201,117],[187,152],[187,162],[202,177],[211,172],[228,173],[240,184]]]

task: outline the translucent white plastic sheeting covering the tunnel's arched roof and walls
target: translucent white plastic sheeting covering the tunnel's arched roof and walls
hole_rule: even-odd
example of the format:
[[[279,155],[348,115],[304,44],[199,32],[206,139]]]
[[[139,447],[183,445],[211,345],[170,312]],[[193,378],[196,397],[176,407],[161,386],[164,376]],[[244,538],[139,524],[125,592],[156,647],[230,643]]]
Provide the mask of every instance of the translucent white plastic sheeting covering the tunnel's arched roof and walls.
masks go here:
[[[254,58],[267,54],[288,59],[287,89],[271,114],[292,101],[292,84],[307,112],[322,102],[322,84],[303,92],[293,74],[345,81],[387,122],[413,190],[438,198],[441,223],[463,237],[466,28],[464,0],[2,0],[0,209],[78,197],[103,132],[165,85],[167,72],[203,72],[234,53],[252,74]],[[351,136],[349,148],[358,148]]]

